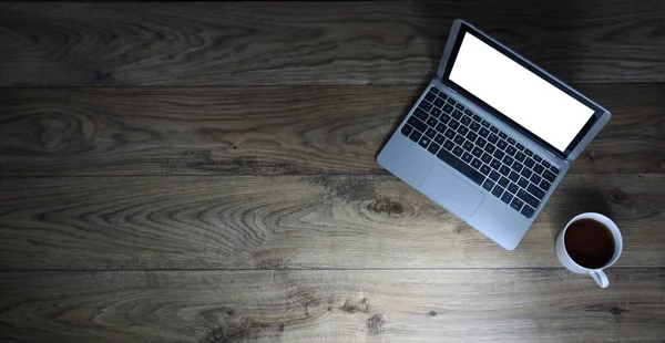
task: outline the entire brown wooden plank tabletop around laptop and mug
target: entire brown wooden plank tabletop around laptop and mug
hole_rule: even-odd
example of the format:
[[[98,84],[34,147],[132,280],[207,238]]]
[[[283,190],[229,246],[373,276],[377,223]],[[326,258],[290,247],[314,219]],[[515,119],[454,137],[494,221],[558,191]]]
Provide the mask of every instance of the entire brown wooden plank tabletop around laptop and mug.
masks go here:
[[[613,113],[514,251],[375,162],[454,18]],[[656,0],[0,3],[0,341],[662,341],[664,55]]]

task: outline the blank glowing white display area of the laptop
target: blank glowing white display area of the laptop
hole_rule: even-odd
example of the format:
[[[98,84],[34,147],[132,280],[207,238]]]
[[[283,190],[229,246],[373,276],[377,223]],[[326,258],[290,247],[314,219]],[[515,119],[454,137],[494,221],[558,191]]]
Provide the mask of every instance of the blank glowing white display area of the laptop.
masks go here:
[[[594,112],[468,32],[449,77],[561,152]]]

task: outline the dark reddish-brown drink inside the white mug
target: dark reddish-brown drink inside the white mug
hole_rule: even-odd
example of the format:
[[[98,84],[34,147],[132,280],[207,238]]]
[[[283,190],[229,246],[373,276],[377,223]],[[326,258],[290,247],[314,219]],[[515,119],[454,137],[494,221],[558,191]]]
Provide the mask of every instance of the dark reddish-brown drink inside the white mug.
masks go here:
[[[593,219],[580,219],[571,224],[563,241],[573,261],[589,269],[607,264],[614,256],[612,231]]]

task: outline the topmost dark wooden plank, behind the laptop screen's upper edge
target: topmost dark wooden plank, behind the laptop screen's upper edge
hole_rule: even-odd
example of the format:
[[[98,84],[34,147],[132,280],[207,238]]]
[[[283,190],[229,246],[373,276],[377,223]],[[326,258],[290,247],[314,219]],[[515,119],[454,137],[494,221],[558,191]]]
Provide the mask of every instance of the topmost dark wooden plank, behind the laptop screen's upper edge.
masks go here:
[[[464,18],[569,82],[663,82],[659,0],[2,3],[0,85],[423,84]]]

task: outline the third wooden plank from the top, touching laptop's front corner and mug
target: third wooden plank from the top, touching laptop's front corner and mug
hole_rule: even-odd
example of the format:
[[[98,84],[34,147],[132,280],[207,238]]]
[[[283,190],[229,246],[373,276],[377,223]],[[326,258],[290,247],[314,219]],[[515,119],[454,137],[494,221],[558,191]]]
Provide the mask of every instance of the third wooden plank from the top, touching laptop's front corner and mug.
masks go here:
[[[583,211],[622,229],[617,266],[665,267],[665,174],[570,175],[515,251],[392,176],[1,181],[1,270],[559,267]]]

